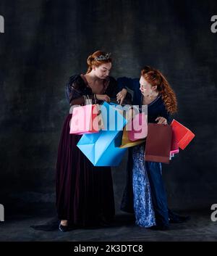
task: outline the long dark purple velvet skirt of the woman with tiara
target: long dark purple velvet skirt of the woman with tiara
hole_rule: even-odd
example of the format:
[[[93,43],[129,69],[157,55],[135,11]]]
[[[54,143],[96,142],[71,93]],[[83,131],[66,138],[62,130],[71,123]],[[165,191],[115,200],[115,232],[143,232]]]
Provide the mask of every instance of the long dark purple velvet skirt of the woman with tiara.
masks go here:
[[[75,226],[98,226],[114,218],[110,167],[94,167],[69,134],[72,114],[64,121],[56,162],[56,208],[60,220]]]

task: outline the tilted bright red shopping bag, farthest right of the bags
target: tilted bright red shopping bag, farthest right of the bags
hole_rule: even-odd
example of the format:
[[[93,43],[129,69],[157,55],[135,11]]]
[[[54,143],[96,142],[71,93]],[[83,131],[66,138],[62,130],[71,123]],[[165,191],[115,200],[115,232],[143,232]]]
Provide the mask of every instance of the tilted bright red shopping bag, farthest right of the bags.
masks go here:
[[[176,143],[180,149],[185,149],[186,146],[190,144],[190,141],[194,139],[195,134],[176,120],[172,120],[171,127],[174,131],[174,139],[176,140]]]

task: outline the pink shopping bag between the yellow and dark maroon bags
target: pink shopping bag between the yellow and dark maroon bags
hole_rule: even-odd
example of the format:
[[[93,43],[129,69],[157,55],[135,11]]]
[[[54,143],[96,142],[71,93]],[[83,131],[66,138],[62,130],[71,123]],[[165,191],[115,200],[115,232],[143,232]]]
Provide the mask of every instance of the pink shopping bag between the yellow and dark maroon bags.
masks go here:
[[[126,126],[130,141],[145,139],[148,133],[148,115],[144,112],[139,113]]]

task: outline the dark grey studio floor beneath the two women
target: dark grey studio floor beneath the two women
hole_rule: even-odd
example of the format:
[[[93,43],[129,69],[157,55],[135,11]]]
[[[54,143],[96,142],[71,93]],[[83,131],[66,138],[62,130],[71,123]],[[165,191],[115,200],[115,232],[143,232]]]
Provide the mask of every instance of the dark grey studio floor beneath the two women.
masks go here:
[[[169,231],[153,231],[135,226],[132,215],[119,213],[109,228],[75,229],[61,233],[51,212],[37,211],[14,215],[0,223],[0,241],[217,241],[217,223],[210,210],[181,212],[190,214],[187,223],[171,224]],[[52,231],[37,231],[30,226],[46,225]]]

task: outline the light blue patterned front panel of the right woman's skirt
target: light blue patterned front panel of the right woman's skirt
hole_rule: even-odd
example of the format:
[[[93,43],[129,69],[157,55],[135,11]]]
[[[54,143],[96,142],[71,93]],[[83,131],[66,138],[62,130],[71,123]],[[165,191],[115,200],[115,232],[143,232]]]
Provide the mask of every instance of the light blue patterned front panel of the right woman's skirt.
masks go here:
[[[148,228],[156,225],[156,218],[151,199],[148,174],[145,169],[144,144],[132,149],[132,189],[135,223],[137,226]]]

